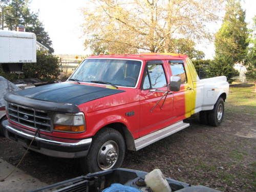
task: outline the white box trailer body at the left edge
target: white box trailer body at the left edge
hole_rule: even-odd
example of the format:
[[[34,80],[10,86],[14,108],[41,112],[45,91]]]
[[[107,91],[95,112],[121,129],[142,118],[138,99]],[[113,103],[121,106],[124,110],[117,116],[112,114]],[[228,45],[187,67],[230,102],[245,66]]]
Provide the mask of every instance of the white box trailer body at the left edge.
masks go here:
[[[0,63],[36,62],[34,33],[0,30]]]

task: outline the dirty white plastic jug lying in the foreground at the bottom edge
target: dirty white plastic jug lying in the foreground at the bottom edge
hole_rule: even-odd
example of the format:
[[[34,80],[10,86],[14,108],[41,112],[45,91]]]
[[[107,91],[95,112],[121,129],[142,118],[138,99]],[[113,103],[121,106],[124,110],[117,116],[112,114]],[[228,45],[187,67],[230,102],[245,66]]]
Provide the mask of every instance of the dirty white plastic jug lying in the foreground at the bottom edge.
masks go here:
[[[159,168],[152,170],[145,176],[145,183],[154,192],[171,192],[168,182]]]

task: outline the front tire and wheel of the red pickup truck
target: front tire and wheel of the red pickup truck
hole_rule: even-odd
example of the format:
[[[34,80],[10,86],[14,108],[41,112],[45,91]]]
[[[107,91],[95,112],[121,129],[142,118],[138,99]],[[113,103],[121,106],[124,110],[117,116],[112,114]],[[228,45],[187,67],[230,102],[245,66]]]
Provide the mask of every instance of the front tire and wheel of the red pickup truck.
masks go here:
[[[120,132],[105,127],[93,138],[89,153],[80,159],[83,173],[118,168],[125,155],[125,142]]]

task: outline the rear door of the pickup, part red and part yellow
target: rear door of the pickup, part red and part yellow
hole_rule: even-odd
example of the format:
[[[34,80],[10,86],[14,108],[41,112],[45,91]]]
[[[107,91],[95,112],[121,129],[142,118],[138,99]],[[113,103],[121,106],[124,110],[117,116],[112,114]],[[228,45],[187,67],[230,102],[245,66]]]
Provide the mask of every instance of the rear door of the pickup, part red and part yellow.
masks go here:
[[[191,101],[191,97],[193,96],[193,89],[188,82],[189,80],[182,60],[168,60],[168,65],[171,76],[179,76],[181,78],[180,91],[173,92],[175,121],[179,121],[190,116],[191,104],[189,101]]]

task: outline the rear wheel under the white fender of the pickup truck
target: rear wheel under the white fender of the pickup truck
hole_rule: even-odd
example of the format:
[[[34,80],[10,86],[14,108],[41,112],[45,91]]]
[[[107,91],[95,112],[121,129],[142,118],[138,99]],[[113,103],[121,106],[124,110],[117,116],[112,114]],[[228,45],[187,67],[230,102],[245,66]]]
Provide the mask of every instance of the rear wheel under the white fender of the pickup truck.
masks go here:
[[[224,100],[219,97],[214,105],[214,109],[209,111],[209,124],[212,126],[220,126],[224,117]]]

